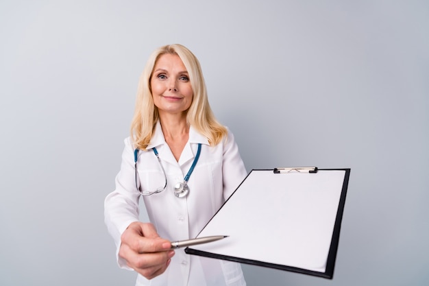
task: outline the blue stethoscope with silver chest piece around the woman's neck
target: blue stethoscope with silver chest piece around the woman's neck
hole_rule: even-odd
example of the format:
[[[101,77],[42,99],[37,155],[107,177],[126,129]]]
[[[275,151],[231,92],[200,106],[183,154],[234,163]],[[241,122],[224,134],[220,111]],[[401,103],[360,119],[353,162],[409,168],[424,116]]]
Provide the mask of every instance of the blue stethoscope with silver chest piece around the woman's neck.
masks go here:
[[[141,187],[137,184],[137,158],[138,158],[138,149],[134,150],[134,169],[136,171],[136,188],[138,190],[138,192],[140,193],[140,195],[153,195],[154,193],[160,193],[162,191],[164,191],[164,189],[167,187],[167,174],[165,174],[165,170],[164,167],[162,167],[162,163],[161,163],[161,159],[160,156],[158,154],[158,151],[156,150],[156,147],[152,148],[152,151],[154,151],[154,154],[156,156],[156,158],[158,158],[158,163],[160,163],[161,169],[162,169],[162,173],[164,173],[164,178],[165,178],[165,184],[164,187],[159,187],[158,189],[156,189],[155,191],[142,191]],[[174,195],[177,198],[184,198],[186,197],[186,195],[188,195],[189,193],[189,187],[188,187],[188,180],[191,177],[191,174],[195,168],[195,165],[197,165],[198,162],[198,158],[199,158],[199,154],[201,153],[201,143],[198,143],[198,150],[197,150],[197,154],[195,155],[194,161],[191,165],[191,168],[189,168],[188,173],[186,174],[186,176],[183,179],[183,182],[177,182],[174,185]]]

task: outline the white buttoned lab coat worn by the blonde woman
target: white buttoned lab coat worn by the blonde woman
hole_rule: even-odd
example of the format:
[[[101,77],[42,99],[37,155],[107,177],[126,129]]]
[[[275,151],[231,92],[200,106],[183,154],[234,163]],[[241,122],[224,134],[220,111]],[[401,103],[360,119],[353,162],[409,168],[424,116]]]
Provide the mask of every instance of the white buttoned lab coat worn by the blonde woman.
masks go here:
[[[188,180],[190,191],[186,198],[176,198],[173,185],[184,180],[197,153],[197,143],[202,144],[201,154]],[[142,197],[150,222],[154,224],[160,237],[165,239],[177,241],[193,238],[247,174],[234,136],[228,130],[227,138],[210,147],[206,137],[191,126],[188,143],[177,162],[165,142],[158,122],[147,151],[138,153],[137,167],[141,188],[149,191],[163,187],[165,182],[152,147],[158,150],[167,174],[167,189],[162,193]],[[118,256],[121,234],[132,222],[138,221],[138,199],[134,147],[130,138],[127,138],[121,171],[116,177],[116,189],[105,200],[106,225],[117,246],[119,266],[125,269],[130,268]],[[175,256],[164,274],[150,281],[139,274],[136,285],[243,286],[245,280],[241,266],[237,263],[189,255],[179,249],[175,250]]]

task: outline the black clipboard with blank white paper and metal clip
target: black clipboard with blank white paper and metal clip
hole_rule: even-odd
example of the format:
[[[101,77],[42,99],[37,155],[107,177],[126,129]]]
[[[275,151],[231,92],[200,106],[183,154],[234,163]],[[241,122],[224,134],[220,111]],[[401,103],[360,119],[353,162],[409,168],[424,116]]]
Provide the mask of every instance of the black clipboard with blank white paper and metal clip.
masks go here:
[[[254,169],[188,254],[332,279],[350,169]]]

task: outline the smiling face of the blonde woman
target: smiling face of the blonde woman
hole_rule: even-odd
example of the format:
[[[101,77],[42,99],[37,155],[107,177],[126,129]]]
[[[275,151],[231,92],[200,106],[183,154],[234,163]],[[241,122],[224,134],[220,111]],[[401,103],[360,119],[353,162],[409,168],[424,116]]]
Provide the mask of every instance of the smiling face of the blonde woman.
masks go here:
[[[154,104],[162,113],[185,114],[193,91],[188,71],[177,55],[166,53],[156,61],[151,77]]]

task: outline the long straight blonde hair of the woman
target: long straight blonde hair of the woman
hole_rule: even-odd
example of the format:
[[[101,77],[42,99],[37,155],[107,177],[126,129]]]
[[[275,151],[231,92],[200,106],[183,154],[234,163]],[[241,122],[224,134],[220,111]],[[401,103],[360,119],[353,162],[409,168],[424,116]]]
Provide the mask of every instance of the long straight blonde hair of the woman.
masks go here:
[[[217,121],[208,103],[206,84],[204,82],[201,66],[195,55],[186,47],[179,44],[159,47],[147,60],[145,69],[138,82],[136,108],[131,123],[131,138],[134,147],[145,150],[154,134],[155,126],[159,120],[158,108],[154,104],[151,93],[151,76],[156,61],[160,56],[170,53],[179,56],[182,60],[193,90],[193,101],[186,113],[189,126],[207,137],[210,145],[217,145],[226,135],[225,126]]]

